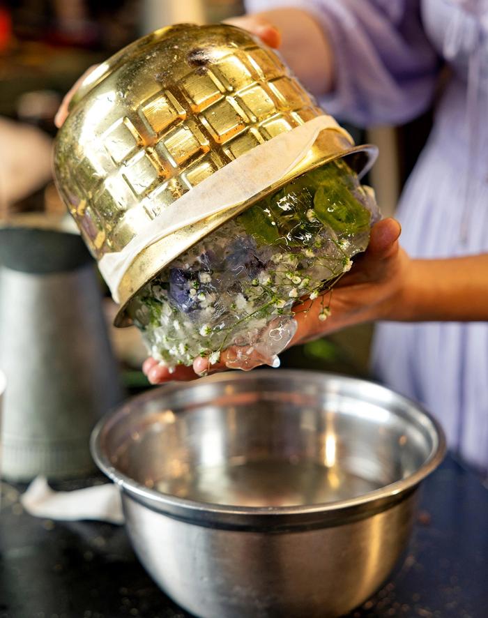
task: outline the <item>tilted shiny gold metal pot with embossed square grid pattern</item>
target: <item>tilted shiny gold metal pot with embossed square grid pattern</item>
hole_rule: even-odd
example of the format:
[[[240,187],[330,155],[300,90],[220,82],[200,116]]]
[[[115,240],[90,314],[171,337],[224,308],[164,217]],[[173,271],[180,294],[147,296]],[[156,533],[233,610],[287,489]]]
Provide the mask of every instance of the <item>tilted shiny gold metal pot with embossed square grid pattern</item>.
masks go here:
[[[174,202],[259,144],[323,115],[280,57],[228,25],[179,24],[141,38],[79,88],[56,138],[56,183],[91,253],[118,252]],[[347,156],[357,172],[374,146],[323,130],[280,183]],[[125,306],[172,259],[250,206],[236,204],[153,243],[119,285]]]

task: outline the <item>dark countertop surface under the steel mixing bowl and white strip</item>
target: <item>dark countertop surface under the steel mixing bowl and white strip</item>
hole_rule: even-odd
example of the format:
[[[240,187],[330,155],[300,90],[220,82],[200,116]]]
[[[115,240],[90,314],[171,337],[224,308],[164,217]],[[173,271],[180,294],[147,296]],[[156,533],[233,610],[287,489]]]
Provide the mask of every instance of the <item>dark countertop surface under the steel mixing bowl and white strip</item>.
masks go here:
[[[123,527],[31,518],[18,495],[3,483],[0,618],[189,617],[148,578]],[[351,614],[391,616],[488,616],[488,490],[450,457],[423,485],[403,564]]]

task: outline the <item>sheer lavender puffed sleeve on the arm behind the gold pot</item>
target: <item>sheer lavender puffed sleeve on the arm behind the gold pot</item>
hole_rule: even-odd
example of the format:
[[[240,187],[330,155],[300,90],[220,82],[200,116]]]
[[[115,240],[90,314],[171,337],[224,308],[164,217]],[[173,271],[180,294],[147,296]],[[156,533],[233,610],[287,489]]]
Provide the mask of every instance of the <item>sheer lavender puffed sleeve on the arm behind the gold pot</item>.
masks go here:
[[[432,100],[439,58],[420,18],[419,0],[247,0],[249,13],[307,10],[322,25],[335,62],[326,110],[358,126],[404,123]],[[313,59],[310,59],[313,62]]]

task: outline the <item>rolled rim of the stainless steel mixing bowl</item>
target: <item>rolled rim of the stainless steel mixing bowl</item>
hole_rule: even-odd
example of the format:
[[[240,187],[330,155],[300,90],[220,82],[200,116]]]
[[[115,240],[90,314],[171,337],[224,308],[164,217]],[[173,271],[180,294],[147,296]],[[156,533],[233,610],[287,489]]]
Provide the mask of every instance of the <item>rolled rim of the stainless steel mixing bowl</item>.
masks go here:
[[[405,478],[400,479],[399,481],[395,481],[393,483],[389,483],[388,485],[383,485],[383,487],[373,490],[371,492],[366,492],[357,497],[336,500],[334,502],[325,502],[319,504],[307,504],[300,506],[233,506],[233,505],[225,505],[225,504],[216,504],[212,502],[203,502],[189,498],[176,497],[171,494],[166,494],[163,492],[156,491],[154,489],[148,488],[142,483],[138,483],[135,479],[130,476],[124,474],[120,470],[116,469],[116,467],[109,460],[107,455],[103,451],[102,439],[103,434],[109,431],[109,429],[116,424],[116,421],[121,416],[125,416],[128,414],[128,408],[132,406],[135,402],[144,401],[145,399],[152,399],[155,391],[165,391],[165,393],[171,394],[175,391],[191,389],[194,387],[195,382],[173,382],[171,384],[166,384],[165,386],[161,386],[159,389],[151,389],[146,393],[142,393],[140,395],[136,395],[133,398],[130,398],[126,402],[123,403],[121,407],[116,408],[114,411],[109,412],[105,416],[98,421],[95,428],[91,433],[90,440],[90,448],[93,460],[95,460],[98,468],[108,476],[116,485],[119,486],[121,490],[125,490],[129,495],[132,495],[135,498],[139,498],[147,500],[151,502],[153,507],[157,504],[161,508],[161,512],[164,511],[165,506],[169,506],[171,508],[177,508],[180,511],[185,511],[187,513],[206,513],[206,515],[223,515],[223,516],[256,516],[256,515],[265,515],[271,517],[273,515],[281,515],[281,516],[293,516],[293,515],[313,515],[314,513],[337,513],[338,511],[347,511],[349,509],[355,507],[364,507],[368,505],[377,504],[381,500],[388,500],[394,497],[398,497],[400,495],[405,494],[409,490],[413,490],[421,481],[424,480],[429,474],[434,472],[436,467],[442,462],[445,451],[446,451],[446,442],[445,442],[445,434],[441,425],[439,424],[434,417],[427,412],[427,410],[420,405],[418,402],[397,393],[396,391],[389,389],[378,382],[373,382],[372,380],[367,380],[358,377],[351,377],[348,375],[341,375],[340,373],[335,372],[319,372],[315,370],[301,370],[301,369],[281,369],[279,370],[280,374],[286,373],[290,377],[302,375],[303,377],[313,377],[315,380],[317,379],[335,379],[340,380],[341,382],[346,382],[349,384],[367,384],[369,388],[376,389],[379,393],[390,393],[395,395],[396,400],[402,404],[404,407],[413,407],[417,414],[420,414],[423,419],[430,423],[431,428],[429,429],[429,433],[434,437],[434,445],[432,446],[432,450],[429,453],[429,456],[422,463],[422,465]],[[240,373],[239,379],[255,379],[257,377],[257,373],[266,379],[266,377],[276,377],[277,372],[273,369],[264,369],[259,370],[258,372],[247,372]],[[206,378],[200,378],[197,382],[200,384],[208,384],[210,382],[231,382],[235,379],[234,372],[223,372],[218,373]],[[435,443],[436,442],[436,443]],[[166,513],[171,516],[171,513]]]

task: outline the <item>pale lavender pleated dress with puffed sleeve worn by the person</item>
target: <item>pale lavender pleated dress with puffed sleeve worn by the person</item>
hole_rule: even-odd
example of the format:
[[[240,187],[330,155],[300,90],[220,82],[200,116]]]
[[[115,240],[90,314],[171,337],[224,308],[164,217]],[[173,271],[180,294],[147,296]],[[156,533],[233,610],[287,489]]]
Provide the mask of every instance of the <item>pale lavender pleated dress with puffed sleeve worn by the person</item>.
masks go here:
[[[247,1],[250,11],[280,6],[309,10],[323,24],[336,84],[320,103],[360,126],[420,114],[441,60],[450,64],[432,135],[399,204],[402,244],[413,257],[488,252],[487,0]],[[425,404],[453,449],[488,469],[487,323],[379,324],[373,366]]]

